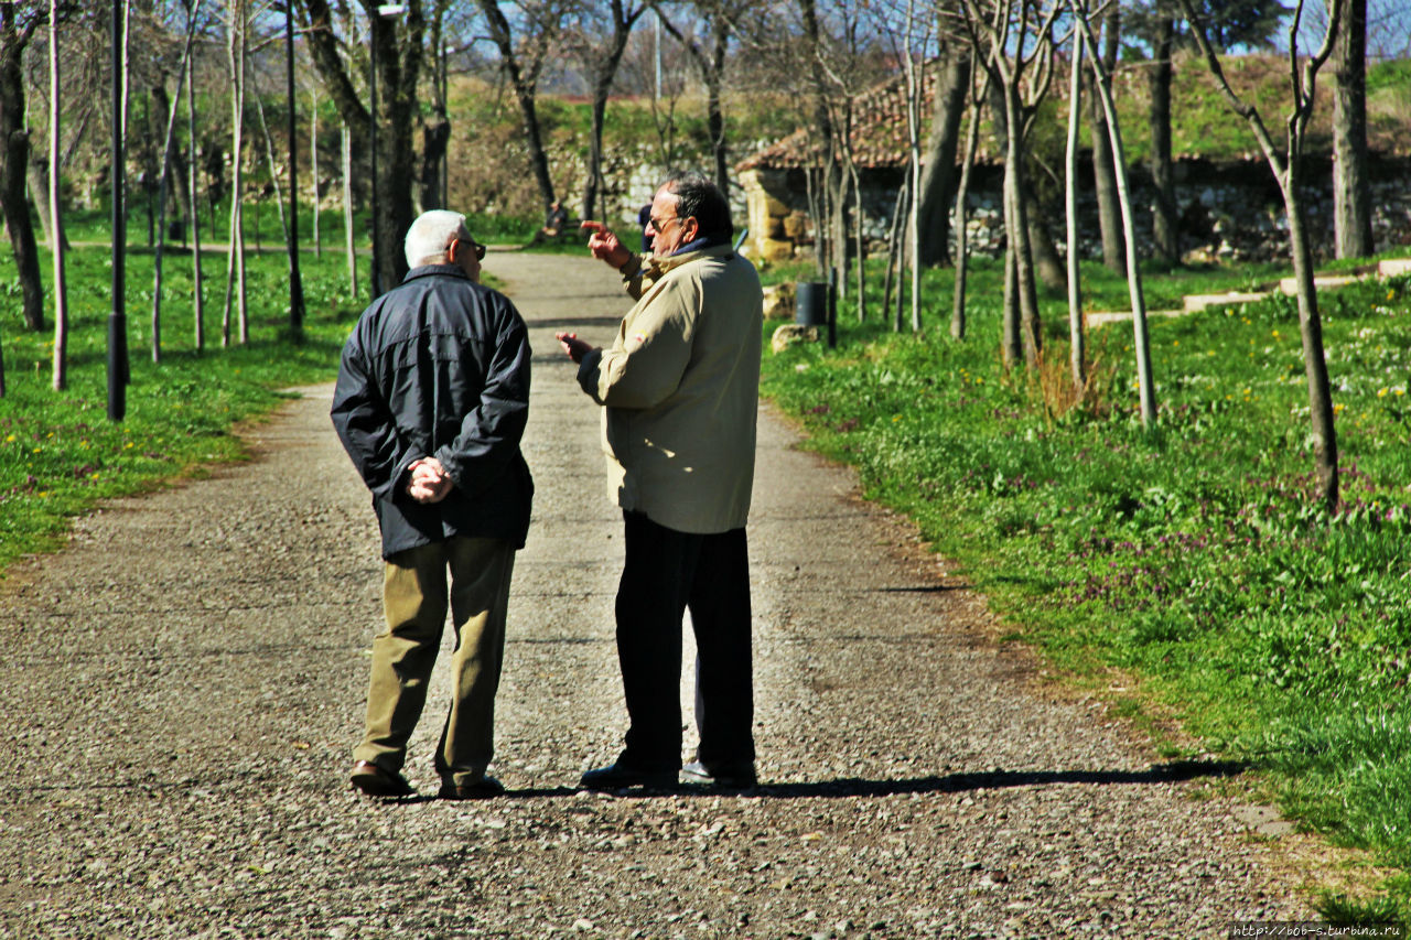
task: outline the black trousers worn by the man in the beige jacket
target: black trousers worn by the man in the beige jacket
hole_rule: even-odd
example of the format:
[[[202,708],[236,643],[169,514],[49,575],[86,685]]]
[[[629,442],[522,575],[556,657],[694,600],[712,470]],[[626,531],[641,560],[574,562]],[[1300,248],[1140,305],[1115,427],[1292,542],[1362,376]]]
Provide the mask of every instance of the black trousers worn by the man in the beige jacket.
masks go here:
[[[749,552],[745,529],[677,532],[642,512],[622,514],[626,563],[617,596],[617,644],[631,727],[619,762],[682,764],[682,617],[696,631],[697,759],[755,759]]]

